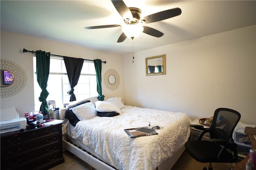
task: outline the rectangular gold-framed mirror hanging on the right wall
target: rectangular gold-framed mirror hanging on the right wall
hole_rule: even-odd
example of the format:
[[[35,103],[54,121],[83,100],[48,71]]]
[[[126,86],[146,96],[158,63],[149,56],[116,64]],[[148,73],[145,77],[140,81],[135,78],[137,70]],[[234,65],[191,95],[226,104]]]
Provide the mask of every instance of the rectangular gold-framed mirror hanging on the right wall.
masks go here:
[[[166,74],[165,55],[147,57],[145,62],[146,76]]]

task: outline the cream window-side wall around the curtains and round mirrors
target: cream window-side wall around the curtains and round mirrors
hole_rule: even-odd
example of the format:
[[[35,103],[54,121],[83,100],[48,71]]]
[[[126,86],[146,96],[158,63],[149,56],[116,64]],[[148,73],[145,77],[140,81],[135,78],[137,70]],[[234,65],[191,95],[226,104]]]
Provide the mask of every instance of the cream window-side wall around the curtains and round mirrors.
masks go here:
[[[1,98],[1,109],[16,107],[21,116],[23,116],[23,113],[34,112],[33,55],[32,53],[23,53],[23,48],[29,51],[40,49],[56,55],[107,61],[106,64],[102,63],[102,94],[110,97],[118,96],[124,98],[123,58],[121,55],[1,31],[1,59],[7,59],[18,64],[24,69],[28,79],[26,86],[21,92],[8,98]],[[109,68],[113,68],[119,73],[120,85],[117,90],[108,90],[104,85],[103,75]]]

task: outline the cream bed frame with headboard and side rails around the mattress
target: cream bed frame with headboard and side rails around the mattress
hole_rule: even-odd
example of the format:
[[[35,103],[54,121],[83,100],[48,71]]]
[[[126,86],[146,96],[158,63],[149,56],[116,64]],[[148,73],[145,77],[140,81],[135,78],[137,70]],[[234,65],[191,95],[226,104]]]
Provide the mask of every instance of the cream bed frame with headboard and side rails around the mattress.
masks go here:
[[[105,99],[108,99],[108,98],[105,97]],[[91,97],[91,98],[87,98],[85,100],[90,100],[91,102],[94,103],[94,102],[98,101],[98,98]],[[84,101],[84,100],[82,100],[82,101]],[[82,101],[79,101],[79,102],[82,102]],[[124,103],[123,100],[122,100],[122,102]],[[67,107],[70,107],[73,105],[75,105],[75,104],[70,104]],[[94,103],[94,105],[95,105],[95,103]],[[66,111],[66,108],[60,109],[60,111],[59,111],[59,117],[60,117],[60,119],[64,120],[64,123],[67,121],[67,119],[64,119],[65,111]],[[69,152],[73,153],[78,158],[82,159],[84,162],[89,164],[91,166],[91,170],[92,170],[92,167],[97,170],[101,170],[101,169],[116,170],[116,168],[110,166],[103,160],[100,160],[99,158],[97,158],[96,156],[94,156],[93,154],[91,154],[90,152],[85,150],[84,148],[82,148],[82,146],[80,146],[75,141],[71,141],[69,139],[69,137],[67,137],[66,135],[63,135],[62,141],[63,141],[64,150],[68,150]],[[172,166],[174,166],[176,161],[180,158],[180,156],[184,152],[184,150],[185,150],[185,147],[182,147],[180,150],[178,150],[178,152],[176,152],[174,154],[174,156],[172,156],[171,158],[168,158],[165,162],[163,162],[160,166],[158,166],[156,168],[156,170],[170,170],[172,168]]]

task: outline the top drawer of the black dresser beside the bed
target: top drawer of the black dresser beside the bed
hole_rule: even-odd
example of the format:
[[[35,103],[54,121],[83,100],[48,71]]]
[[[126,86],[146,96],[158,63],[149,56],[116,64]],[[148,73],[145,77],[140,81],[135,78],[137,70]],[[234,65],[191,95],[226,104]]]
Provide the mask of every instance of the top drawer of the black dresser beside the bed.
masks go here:
[[[5,134],[3,134],[1,137],[1,148],[24,143],[26,141],[31,141],[44,135],[60,132],[61,126],[49,126],[44,128],[33,129],[30,131],[26,130],[24,132],[14,132],[12,135],[9,136],[5,136]]]

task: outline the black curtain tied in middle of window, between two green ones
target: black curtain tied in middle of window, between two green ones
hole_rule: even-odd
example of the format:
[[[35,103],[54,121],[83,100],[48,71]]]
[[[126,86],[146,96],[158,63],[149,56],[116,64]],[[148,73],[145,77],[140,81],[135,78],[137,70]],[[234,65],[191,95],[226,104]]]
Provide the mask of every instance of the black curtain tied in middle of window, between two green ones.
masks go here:
[[[67,93],[70,95],[70,102],[76,101],[76,96],[74,94],[74,87],[77,85],[82,66],[84,64],[84,59],[78,59],[73,57],[63,57],[66,66],[68,80],[70,83],[70,91]]]

